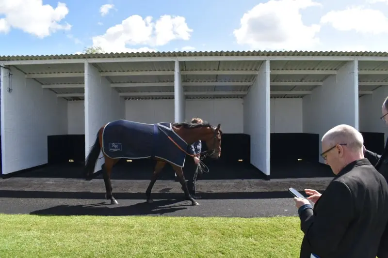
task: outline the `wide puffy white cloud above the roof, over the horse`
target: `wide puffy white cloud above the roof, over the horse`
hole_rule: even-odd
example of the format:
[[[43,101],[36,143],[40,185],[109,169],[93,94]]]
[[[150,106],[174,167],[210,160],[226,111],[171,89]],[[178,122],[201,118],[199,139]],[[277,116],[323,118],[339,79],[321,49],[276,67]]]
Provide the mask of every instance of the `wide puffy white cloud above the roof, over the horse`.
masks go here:
[[[172,40],[189,40],[192,31],[181,16],[163,15],[154,23],[151,16],[143,19],[132,15],[105,34],[93,37],[93,46],[100,46],[106,52],[156,51],[149,47],[127,48],[127,45],[163,46]]]

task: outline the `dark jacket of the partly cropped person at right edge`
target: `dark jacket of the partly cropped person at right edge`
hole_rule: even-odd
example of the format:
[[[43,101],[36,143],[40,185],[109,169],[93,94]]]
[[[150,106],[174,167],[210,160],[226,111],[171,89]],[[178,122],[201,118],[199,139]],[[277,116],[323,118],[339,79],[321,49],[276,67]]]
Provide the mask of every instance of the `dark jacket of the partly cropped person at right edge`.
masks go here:
[[[381,155],[366,150],[364,156],[388,181],[388,139],[384,148],[384,152]],[[383,233],[383,236],[381,237],[377,257],[388,258],[388,225]]]

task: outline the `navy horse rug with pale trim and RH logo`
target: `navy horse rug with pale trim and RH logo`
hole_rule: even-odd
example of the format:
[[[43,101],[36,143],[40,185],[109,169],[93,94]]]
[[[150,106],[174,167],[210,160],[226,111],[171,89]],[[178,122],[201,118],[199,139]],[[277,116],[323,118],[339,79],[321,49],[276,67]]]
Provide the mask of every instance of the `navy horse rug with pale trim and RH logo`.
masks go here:
[[[178,167],[183,167],[187,143],[172,129],[171,123],[139,123],[116,120],[108,123],[102,133],[102,151],[112,159],[160,158]]]

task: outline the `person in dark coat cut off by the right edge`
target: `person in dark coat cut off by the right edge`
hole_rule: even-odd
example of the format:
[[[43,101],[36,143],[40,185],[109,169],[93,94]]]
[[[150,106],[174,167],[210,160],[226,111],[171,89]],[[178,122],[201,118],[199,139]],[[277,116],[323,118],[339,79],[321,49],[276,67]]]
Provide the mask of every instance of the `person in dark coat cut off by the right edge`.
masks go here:
[[[381,107],[382,116],[380,119],[388,125],[388,97],[384,100]],[[371,152],[363,146],[365,157],[371,162],[371,164],[382,174],[388,181],[388,139],[385,144],[383,153],[377,154]],[[377,253],[378,258],[388,258],[388,226],[381,237],[379,251]]]

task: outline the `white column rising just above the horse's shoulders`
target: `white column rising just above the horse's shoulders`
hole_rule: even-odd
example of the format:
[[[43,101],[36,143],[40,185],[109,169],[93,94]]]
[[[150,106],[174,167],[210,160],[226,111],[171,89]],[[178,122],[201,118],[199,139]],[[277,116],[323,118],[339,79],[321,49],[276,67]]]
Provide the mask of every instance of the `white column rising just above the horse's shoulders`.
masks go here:
[[[180,73],[179,61],[175,61],[174,70],[174,106],[175,122],[185,121],[186,98],[182,86],[182,76]]]

